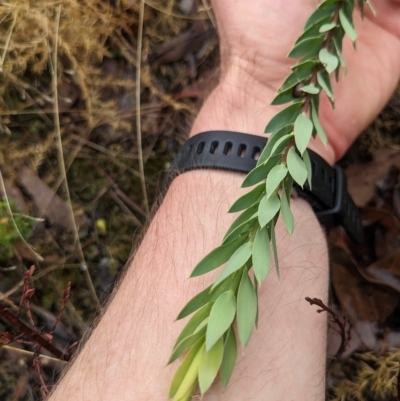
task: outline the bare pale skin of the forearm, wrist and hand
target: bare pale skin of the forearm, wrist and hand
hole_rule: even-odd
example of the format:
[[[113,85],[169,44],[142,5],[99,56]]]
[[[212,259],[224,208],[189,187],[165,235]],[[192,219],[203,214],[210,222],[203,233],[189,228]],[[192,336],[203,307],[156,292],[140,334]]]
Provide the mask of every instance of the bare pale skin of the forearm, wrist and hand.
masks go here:
[[[274,92],[293,60],[292,43],[318,4],[311,0],[214,0],[222,77],[190,135],[210,129],[262,134],[277,112]],[[357,18],[357,53],[346,46],[348,74],[336,87],[337,107],[323,101],[330,145],[312,144],[329,163],[348,149],[395,89],[400,74],[400,1],[375,0],[377,18]],[[243,193],[243,176],[185,173],[172,183],[127,268],[114,299],[51,401],[167,400],[178,363],[166,367],[183,322],[179,310],[215,274],[190,279],[196,263],[219,245],[234,218],[226,211]],[[292,202],[295,232],[278,223],[281,280],[272,271],[260,290],[260,324],[239,352],[231,383],[217,382],[214,400],[320,401],[325,397],[326,318],[305,296],[328,294],[325,236],[310,206]]]

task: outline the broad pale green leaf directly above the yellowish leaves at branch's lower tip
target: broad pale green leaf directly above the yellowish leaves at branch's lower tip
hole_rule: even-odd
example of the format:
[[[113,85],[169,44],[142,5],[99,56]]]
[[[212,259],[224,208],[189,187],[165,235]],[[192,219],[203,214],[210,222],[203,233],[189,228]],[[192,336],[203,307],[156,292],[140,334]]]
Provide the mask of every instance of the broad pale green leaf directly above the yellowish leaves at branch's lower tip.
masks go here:
[[[224,292],[215,301],[210,317],[208,318],[206,332],[206,350],[223,336],[231,326],[236,314],[236,298],[233,291]]]

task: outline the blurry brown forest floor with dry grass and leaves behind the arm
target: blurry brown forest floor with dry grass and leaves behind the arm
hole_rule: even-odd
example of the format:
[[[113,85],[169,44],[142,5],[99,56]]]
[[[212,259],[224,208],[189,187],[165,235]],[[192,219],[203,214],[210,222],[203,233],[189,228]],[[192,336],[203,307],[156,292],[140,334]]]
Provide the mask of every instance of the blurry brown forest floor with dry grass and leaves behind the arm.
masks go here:
[[[68,353],[111,293],[217,82],[212,21],[195,0],[0,5],[1,400],[42,398],[65,366],[29,333]],[[329,236],[345,325],[330,324],[329,399],[399,397],[399,134],[397,91],[341,161],[365,240]]]

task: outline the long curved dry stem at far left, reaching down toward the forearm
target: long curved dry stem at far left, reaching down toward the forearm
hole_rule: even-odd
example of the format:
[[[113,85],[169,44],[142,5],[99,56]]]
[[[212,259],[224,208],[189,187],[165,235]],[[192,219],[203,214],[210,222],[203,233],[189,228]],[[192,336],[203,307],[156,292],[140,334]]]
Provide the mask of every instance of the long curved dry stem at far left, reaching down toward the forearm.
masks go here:
[[[78,229],[76,227],[76,221],[75,221],[75,216],[74,212],[72,210],[72,203],[71,203],[71,196],[69,193],[69,187],[68,187],[68,181],[67,181],[67,173],[65,171],[65,161],[64,161],[64,154],[62,151],[62,140],[61,140],[61,128],[60,128],[60,118],[58,114],[58,91],[57,91],[57,50],[58,50],[58,29],[60,26],[60,15],[61,15],[61,5],[58,5],[57,11],[56,11],[56,23],[55,23],[55,31],[54,31],[54,51],[53,51],[53,65],[54,65],[54,74],[53,74],[53,79],[52,79],[52,86],[53,86],[53,96],[54,96],[54,126],[56,130],[56,138],[57,138],[57,148],[58,148],[58,164],[59,168],[61,171],[61,174],[63,176],[63,186],[64,186],[64,191],[67,196],[68,200],[68,205],[71,213],[71,220],[74,222],[73,226],[73,233],[74,233],[74,241],[75,244],[78,248],[78,253],[79,253],[79,259],[81,261],[81,270],[84,274],[86,284],[89,288],[90,295],[93,299],[93,302],[95,303],[96,307],[100,309],[101,305],[99,302],[99,298],[97,297],[96,290],[93,285],[92,278],[90,277],[90,273],[87,268],[87,264],[85,261],[85,256],[83,254],[81,242],[79,241],[79,234],[78,234]]]

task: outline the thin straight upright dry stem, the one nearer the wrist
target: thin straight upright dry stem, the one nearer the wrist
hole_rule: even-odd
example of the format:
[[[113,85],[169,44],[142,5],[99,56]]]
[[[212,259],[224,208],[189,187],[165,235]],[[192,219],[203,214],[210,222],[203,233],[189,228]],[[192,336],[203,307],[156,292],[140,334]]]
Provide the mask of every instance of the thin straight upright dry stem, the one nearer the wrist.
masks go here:
[[[144,205],[147,213],[149,212],[149,202],[147,199],[146,191],[146,178],[144,176],[144,163],[143,163],[143,149],[142,149],[142,123],[140,117],[140,73],[142,64],[142,42],[143,42],[143,18],[144,18],[144,0],[140,0],[139,10],[139,29],[137,39],[137,52],[136,52],[136,138],[138,147],[138,158],[139,158],[139,171],[140,171],[140,183],[142,185],[142,193]]]

